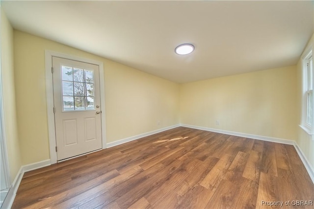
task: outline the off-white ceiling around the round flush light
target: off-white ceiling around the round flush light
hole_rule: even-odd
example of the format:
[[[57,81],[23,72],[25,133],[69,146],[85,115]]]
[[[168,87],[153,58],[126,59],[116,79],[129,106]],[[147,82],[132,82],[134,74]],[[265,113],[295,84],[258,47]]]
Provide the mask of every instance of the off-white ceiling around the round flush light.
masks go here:
[[[3,1],[15,29],[178,83],[297,63],[310,1]],[[177,55],[191,43],[195,51]]]

